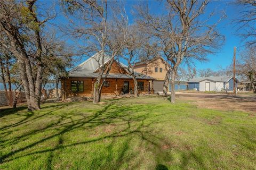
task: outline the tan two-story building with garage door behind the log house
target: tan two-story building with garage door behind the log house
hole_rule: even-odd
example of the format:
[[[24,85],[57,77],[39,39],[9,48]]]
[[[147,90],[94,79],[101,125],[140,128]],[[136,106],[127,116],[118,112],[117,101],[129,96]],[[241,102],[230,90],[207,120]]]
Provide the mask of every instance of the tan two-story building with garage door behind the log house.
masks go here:
[[[150,81],[149,88],[153,86],[155,92],[162,92],[168,65],[162,57],[155,57],[150,61],[135,63],[134,71],[153,77],[155,80]]]

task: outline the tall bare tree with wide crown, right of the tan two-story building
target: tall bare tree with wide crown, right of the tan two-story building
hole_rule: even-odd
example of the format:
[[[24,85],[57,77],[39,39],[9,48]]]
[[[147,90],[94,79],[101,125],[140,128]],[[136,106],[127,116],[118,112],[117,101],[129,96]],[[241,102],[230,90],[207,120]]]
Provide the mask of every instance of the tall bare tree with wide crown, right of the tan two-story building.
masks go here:
[[[217,22],[210,23],[212,13],[205,15],[208,1],[169,0],[167,14],[154,16],[147,7],[140,7],[139,23],[159,42],[159,55],[169,62],[165,82],[171,79],[171,102],[175,102],[174,83],[177,69],[183,60],[206,60],[223,41]],[[165,86],[166,86],[165,83]],[[167,89],[164,88],[164,94]]]

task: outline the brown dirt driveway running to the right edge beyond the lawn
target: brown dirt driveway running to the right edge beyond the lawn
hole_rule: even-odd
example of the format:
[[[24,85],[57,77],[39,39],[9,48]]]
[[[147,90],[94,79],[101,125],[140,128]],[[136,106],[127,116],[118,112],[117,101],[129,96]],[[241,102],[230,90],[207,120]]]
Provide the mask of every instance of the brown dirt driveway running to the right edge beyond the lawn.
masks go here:
[[[198,107],[256,114],[256,96],[176,92],[177,99],[193,100]]]

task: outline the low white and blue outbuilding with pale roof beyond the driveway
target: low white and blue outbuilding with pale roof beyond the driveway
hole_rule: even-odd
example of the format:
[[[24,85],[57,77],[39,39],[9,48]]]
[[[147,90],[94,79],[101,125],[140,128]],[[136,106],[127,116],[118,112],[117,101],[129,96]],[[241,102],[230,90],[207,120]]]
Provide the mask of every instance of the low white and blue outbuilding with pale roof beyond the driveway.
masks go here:
[[[232,91],[233,82],[233,77],[230,76],[194,78],[188,81],[188,89],[197,91],[221,91],[227,89]]]

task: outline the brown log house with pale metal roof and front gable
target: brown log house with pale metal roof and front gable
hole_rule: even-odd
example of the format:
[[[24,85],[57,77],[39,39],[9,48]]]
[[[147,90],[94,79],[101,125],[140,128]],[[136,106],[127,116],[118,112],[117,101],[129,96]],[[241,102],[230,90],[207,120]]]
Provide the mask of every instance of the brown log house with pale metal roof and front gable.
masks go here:
[[[93,86],[99,71],[97,62],[99,57],[98,53],[94,54],[88,60],[79,64],[73,70],[70,70],[68,72],[68,78],[61,78],[61,91],[64,97],[93,96]],[[110,57],[105,56],[103,64],[107,64],[108,62],[110,62]],[[124,94],[127,94],[130,91],[133,92],[133,80],[131,76],[125,72],[123,67],[126,67],[126,65],[114,61],[109,71],[109,75],[103,84],[101,91],[102,95],[119,95],[121,94],[121,91],[123,91]],[[103,76],[105,75],[103,74]],[[139,93],[148,93],[149,81],[154,80],[154,78],[138,74],[137,80]]]

